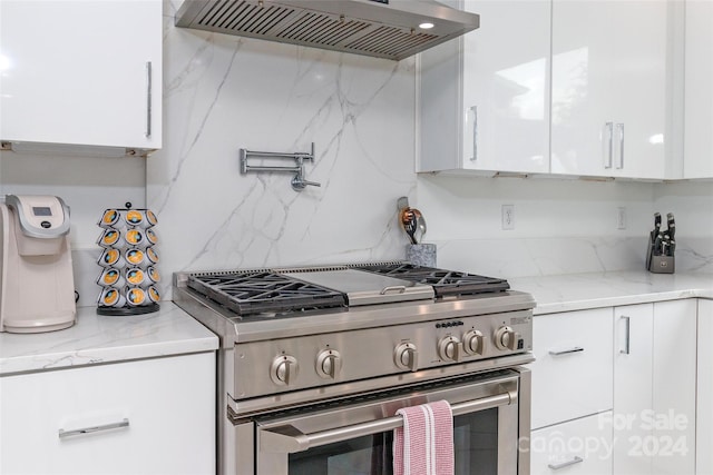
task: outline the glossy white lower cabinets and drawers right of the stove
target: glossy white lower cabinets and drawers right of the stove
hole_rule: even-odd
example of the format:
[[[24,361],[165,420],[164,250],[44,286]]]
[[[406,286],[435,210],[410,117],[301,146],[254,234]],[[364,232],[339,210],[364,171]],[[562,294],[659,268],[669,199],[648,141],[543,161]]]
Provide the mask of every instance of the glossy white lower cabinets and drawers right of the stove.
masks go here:
[[[713,300],[540,315],[533,331],[533,474],[713,475]]]

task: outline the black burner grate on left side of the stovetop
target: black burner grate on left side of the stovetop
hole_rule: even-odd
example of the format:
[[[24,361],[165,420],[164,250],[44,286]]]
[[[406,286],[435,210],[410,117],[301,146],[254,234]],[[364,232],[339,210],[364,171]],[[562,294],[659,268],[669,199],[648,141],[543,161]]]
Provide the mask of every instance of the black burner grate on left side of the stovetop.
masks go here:
[[[187,285],[243,316],[346,305],[339,291],[271,271],[194,274]]]

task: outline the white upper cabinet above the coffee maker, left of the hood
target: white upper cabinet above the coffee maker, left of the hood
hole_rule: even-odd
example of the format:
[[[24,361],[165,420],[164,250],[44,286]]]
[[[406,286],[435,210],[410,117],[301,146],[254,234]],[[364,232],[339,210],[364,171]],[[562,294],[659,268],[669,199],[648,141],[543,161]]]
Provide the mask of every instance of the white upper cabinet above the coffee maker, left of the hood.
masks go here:
[[[160,0],[0,1],[0,140],[162,146]]]

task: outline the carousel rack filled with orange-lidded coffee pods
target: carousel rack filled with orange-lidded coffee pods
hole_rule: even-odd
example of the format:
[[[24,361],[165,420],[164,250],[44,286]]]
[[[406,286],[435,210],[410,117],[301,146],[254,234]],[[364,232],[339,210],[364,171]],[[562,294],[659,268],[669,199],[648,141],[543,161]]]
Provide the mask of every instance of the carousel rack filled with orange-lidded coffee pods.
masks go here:
[[[149,209],[131,209],[130,205],[105,210],[98,222],[99,315],[140,315],[159,308],[156,215]]]

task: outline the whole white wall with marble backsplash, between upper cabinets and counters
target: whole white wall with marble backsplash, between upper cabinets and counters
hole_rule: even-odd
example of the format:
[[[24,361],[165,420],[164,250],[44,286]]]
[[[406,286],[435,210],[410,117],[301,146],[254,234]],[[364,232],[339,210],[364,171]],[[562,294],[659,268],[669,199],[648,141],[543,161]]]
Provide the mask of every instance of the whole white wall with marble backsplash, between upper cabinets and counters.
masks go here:
[[[176,29],[164,18],[164,149],[148,159],[0,152],[0,192],[62,196],[76,284],[95,305],[96,221],[109,207],[158,215],[164,297],[176,270],[402,259],[409,196],[438,264],[506,278],[643,268],[654,211],[676,214],[681,270],[713,270],[713,186],[417,176],[414,60]],[[237,150],[305,151],[307,179],[241,175]],[[514,230],[500,207],[515,205]],[[616,212],[625,207],[626,229]]]

